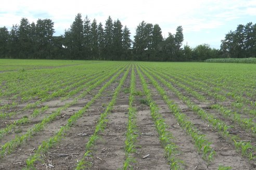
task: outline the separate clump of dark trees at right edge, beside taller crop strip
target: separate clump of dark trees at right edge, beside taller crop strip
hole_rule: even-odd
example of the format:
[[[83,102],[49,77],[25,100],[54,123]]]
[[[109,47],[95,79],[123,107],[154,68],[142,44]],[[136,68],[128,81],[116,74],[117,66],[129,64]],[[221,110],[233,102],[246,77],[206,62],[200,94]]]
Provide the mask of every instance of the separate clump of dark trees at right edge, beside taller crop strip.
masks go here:
[[[250,58],[256,56],[256,24],[239,24],[222,40],[221,53],[224,58]]]

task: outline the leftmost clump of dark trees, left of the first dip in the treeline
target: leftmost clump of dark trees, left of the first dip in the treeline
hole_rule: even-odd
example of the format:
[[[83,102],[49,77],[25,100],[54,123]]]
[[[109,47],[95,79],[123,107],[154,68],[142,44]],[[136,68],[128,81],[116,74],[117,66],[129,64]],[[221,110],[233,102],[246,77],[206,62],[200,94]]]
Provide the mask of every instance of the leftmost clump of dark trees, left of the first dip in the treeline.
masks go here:
[[[62,37],[54,37],[54,23],[50,19],[29,23],[22,18],[10,32],[0,27],[0,56],[14,59],[50,59],[62,48]]]

